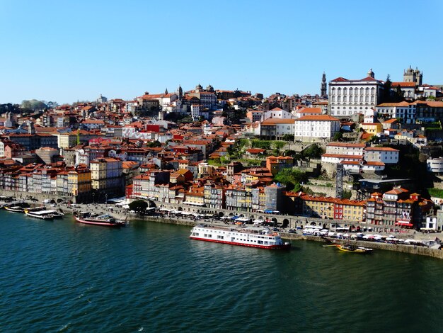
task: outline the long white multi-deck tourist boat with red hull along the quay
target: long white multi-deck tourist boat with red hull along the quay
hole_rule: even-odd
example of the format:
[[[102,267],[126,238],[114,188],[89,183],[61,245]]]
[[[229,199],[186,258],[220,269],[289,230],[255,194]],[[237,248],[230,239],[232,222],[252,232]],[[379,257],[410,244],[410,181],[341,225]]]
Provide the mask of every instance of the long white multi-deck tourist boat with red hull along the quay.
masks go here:
[[[243,247],[259,247],[260,249],[289,249],[291,247],[289,242],[283,242],[277,232],[225,229],[223,227],[207,225],[196,225],[193,227],[190,239],[240,245]]]

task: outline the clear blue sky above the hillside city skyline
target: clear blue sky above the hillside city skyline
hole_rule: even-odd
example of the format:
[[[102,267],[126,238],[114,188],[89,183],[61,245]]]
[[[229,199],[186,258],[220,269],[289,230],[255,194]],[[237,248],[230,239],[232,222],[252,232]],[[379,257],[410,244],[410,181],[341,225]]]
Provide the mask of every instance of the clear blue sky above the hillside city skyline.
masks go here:
[[[327,79],[443,84],[443,1],[0,0],[0,103],[215,89],[316,94]]]

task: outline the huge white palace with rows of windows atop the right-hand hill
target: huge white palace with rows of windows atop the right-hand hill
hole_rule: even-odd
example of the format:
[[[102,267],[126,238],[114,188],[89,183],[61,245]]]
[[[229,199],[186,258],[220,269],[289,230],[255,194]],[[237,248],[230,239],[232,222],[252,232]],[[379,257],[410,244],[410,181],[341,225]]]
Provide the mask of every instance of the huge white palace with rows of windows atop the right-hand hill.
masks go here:
[[[374,79],[372,69],[361,80],[338,77],[329,82],[328,113],[333,117],[350,118],[355,113],[375,108],[381,98],[383,81]]]

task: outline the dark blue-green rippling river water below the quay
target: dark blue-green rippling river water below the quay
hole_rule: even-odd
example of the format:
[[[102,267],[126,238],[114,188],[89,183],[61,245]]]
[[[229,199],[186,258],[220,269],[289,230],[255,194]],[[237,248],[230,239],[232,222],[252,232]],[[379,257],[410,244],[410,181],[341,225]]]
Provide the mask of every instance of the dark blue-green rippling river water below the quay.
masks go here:
[[[268,251],[0,210],[1,332],[441,332],[443,261]]]

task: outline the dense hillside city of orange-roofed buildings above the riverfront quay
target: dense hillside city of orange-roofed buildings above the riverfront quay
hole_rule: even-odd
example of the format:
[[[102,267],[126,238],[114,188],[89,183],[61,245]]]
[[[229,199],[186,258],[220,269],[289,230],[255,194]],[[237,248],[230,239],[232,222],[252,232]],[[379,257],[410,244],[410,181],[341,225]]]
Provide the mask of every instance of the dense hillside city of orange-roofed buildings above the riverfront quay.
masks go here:
[[[289,141],[300,152],[318,142],[325,149],[318,163],[329,176],[337,174],[338,166],[346,174],[382,176],[399,162],[400,150],[374,145],[374,137],[418,149],[428,147],[429,140],[442,140],[442,133],[429,137],[421,126],[442,119],[441,88],[422,84],[418,69],[406,69],[403,81],[390,86],[370,70],[363,79],[333,79],[329,89],[323,73],[321,94],[315,96],[276,93],[265,98],[198,84],[190,91],[181,86],[173,93],[146,91],[129,101],[100,95],[95,102],[6,112],[0,118],[0,188],[72,202],[126,196],[417,227],[431,208],[417,193],[394,188],[350,200],[288,191],[275,176],[301,164],[284,156],[284,149],[277,154],[246,147],[243,163],[231,159],[229,151],[253,137]],[[384,100],[393,94],[403,101]],[[352,140],[333,140],[344,134]],[[228,162],[220,163],[224,159]],[[443,172],[442,165],[441,159],[428,160],[436,174]]]

